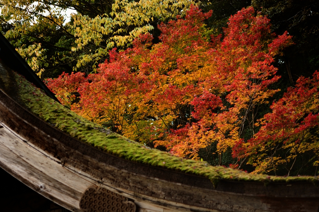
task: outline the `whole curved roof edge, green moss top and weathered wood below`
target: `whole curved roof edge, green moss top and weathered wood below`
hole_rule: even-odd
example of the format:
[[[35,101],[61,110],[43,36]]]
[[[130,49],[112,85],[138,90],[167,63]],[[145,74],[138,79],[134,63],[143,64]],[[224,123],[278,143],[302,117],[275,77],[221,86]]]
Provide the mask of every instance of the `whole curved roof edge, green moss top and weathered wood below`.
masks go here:
[[[0,87],[0,166],[70,210],[318,211],[317,177],[253,175],[146,148],[48,98],[3,62]]]

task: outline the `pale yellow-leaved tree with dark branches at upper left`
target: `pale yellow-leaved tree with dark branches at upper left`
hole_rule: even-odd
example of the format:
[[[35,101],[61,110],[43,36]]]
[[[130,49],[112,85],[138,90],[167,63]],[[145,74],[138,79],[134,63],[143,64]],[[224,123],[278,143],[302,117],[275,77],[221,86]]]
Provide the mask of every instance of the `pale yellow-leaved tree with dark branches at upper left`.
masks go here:
[[[192,1],[1,0],[0,27],[42,79],[96,72],[108,50],[130,46],[159,21],[185,13]],[[65,22],[62,11],[75,13]]]

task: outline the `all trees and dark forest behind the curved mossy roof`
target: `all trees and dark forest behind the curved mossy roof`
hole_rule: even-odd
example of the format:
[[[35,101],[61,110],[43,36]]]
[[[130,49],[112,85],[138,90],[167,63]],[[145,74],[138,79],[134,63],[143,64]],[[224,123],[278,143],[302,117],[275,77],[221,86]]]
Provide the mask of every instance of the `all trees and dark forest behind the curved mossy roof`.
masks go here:
[[[318,6],[0,0],[0,29],[63,105],[103,127],[211,165],[317,176]]]

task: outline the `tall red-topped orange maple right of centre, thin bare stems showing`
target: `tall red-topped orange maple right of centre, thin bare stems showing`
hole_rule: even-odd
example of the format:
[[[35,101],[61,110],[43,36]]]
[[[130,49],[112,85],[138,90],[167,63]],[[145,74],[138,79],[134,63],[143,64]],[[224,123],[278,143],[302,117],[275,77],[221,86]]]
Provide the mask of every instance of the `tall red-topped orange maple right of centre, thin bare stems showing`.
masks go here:
[[[286,34],[274,39],[269,19],[255,17],[252,8],[232,16],[224,32],[223,41],[205,52],[208,59],[199,69],[199,91],[190,101],[195,120],[174,130],[166,145],[174,154],[196,158],[199,149],[215,142],[219,165],[222,153],[254,135],[259,106],[276,92],[269,89],[278,80],[272,56],[290,39]]]

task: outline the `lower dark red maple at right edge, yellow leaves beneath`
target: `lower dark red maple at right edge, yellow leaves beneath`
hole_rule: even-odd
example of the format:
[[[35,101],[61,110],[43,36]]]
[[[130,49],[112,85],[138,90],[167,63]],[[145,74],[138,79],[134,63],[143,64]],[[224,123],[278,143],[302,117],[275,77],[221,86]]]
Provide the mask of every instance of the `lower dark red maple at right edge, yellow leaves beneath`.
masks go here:
[[[300,77],[256,123],[259,132],[236,144],[234,155],[249,157],[254,173],[318,175],[318,91],[318,72],[312,79]]]

